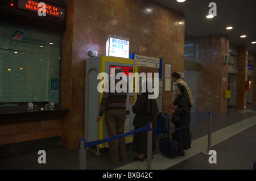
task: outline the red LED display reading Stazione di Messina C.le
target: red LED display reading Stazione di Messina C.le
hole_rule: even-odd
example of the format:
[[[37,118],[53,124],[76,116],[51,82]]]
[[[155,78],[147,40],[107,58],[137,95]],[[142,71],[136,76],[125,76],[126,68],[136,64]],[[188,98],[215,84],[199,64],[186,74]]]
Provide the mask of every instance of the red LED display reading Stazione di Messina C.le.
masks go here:
[[[18,7],[23,10],[42,12],[46,16],[54,16],[57,18],[65,19],[65,9],[63,7],[50,5],[42,1],[19,0]]]

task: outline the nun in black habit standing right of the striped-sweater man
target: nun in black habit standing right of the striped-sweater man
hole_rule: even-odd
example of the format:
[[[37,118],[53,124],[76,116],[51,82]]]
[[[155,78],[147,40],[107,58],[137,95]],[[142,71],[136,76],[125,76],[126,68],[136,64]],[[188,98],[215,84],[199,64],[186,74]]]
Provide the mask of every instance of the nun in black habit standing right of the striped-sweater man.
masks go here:
[[[133,120],[134,129],[142,128],[153,123],[155,127],[156,113],[159,112],[155,99],[148,99],[148,95],[154,94],[152,85],[149,81],[142,82],[142,94],[138,96],[134,106],[133,113],[136,114]],[[155,133],[152,134],[152,151],[155,150]],[[139,153],[134,159],[144,161],[144,154],[147,153],[147,130],[135,133],[133,138],[133,151]]]

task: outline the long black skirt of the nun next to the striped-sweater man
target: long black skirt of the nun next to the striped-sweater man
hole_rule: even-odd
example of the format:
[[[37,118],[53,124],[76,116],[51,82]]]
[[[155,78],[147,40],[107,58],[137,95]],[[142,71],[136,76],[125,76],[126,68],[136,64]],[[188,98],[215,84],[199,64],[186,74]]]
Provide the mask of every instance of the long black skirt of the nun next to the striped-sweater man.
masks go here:
[[[135,127],[134,129],[138,129],[138,127]],[[155,145],[155,131],[152,131],[152,151],[155,151]],[[134,134],[133,151],[141,154],[147,154],[147,130]]]

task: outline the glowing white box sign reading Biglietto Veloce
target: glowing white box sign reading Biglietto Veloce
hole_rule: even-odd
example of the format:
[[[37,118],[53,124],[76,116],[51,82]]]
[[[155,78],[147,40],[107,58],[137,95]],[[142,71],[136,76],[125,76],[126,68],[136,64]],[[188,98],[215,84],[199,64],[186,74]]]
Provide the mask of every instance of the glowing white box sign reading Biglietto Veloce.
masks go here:
[[[109,35],[106,41],[106,56],[129,58],[130,39]]]

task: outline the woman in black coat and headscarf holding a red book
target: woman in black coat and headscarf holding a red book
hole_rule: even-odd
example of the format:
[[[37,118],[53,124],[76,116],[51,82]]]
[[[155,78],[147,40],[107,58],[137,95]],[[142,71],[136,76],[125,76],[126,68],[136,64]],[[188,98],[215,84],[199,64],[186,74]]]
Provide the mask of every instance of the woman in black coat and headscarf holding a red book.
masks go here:
[[[172,118],[172,123],[175,124],[175,128],[181,128],[176,129],[175,140],[179,141],[179,155],[184,155],[184,150],[190,148],[191,144],[191,137],[188,126],[190,125],[190,113],[192,106],[185,86],[181,85],[181,83],[177,83],[175,89],[177,91],[177,98],[172,104],[174,104],[178,108],[176,110],[172,110],[172,113],[180,116],[180,121],[176,122]],[[175,117],[175,115],[172,117]]]

